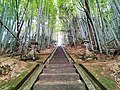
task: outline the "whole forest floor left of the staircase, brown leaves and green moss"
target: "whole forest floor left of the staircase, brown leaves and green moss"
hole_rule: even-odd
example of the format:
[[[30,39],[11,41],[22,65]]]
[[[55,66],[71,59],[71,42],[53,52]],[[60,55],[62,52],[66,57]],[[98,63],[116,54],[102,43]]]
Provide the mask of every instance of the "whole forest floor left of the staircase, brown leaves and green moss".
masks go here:
[[[16,85],[16,81],[21,80],[37,63],[43,63],[53,50],[52,47],[37,53],[39,59],[36,61],[23,61],[20,56],[0,56],[0,90],[11,90]]]

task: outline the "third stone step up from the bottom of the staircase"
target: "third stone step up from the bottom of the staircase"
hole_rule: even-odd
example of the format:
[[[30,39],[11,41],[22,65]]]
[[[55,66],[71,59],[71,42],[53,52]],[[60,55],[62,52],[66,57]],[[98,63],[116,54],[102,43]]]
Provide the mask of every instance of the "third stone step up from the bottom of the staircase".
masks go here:
[[[75,68],[44,68],[43,73],[76,73]]]

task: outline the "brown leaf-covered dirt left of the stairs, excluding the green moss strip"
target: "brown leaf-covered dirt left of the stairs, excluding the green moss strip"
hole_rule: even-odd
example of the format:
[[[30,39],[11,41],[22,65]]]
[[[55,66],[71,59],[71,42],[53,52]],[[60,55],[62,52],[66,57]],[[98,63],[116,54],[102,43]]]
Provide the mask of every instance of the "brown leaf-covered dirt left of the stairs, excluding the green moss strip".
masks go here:
[[[0,83],[8,82],[9,80],[18,77],[22,72],[30,69],[31,64],[40,63],[44,61],[54,48],[42,50],[38,55],[39,59],[36,61],[23,61],[20,56],[7,57],[0,56]],[[40,60],[40,62],[39,62]],[[31,63],[31,64],[30,64]]]

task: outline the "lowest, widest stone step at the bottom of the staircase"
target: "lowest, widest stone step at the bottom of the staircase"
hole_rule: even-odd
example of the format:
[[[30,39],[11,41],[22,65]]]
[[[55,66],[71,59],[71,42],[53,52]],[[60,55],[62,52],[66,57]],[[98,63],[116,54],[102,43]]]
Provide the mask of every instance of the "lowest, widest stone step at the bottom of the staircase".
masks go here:
[[[86,88],[81,80],[58,82],[38,81],[34,84],[33,90],[86,90]]]

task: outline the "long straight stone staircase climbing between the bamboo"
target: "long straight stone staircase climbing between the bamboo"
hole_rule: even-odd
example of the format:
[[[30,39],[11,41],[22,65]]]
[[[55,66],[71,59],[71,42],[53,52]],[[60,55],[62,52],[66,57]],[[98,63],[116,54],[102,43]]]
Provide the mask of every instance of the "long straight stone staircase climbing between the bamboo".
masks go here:
[[[70,64],[61,47],[51,62],[46,64],[33,90],[86,90],[73,64]]]

